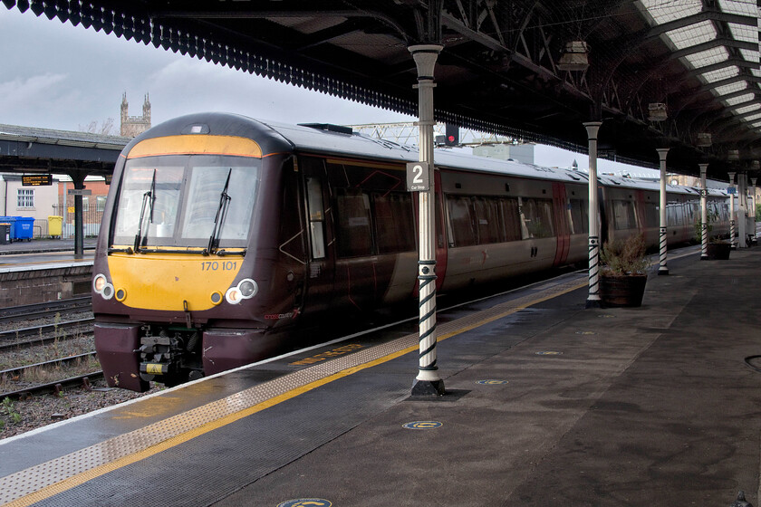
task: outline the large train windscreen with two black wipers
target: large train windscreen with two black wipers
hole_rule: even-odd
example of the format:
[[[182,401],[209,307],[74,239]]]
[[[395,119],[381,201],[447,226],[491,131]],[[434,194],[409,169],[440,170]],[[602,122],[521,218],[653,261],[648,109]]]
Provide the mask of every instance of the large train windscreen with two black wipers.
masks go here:
[[[217,155],[129,159],[112,244],[245,247],[261,160]]]

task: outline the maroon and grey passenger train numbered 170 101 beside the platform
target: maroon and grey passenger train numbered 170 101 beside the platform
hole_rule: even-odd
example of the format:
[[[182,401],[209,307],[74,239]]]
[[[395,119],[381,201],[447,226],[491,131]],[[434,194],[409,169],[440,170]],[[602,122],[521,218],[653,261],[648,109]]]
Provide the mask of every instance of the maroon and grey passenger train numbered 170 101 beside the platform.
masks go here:
[[[439,292],[586,263],[588,175],[435,149]],[[271,357],[290,330],[414,301],[418,149],[330,124],[227,113],[169,120],[114,167],[93,263],[95,348],[111,387],[168,386]],[[660,185],[599,177],[602,241],[659,241]],[[669,244],[699,190],[668,187]],[[710,190],[712,234],[727,194]]]

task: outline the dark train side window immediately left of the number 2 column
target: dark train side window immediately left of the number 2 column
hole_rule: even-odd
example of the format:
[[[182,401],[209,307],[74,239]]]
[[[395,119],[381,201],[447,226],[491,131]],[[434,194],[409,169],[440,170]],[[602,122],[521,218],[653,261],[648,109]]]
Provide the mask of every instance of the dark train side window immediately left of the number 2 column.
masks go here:
[[[372,204],[378,253],[415,250],[412,197],[401,193],[374,194]]]

